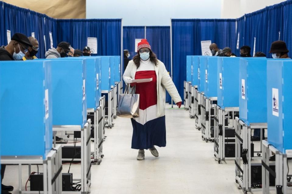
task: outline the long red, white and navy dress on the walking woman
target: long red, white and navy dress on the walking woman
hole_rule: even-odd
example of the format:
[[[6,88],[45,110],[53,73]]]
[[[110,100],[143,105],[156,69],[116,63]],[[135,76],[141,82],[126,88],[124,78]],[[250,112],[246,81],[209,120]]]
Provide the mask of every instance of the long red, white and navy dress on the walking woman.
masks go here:
[[[139,117],[132,118],[133,149],[149,149],[153,145],[166,146],[165,116],[157,117],[157,77],[155,65],[149,59],[140,61],[135,79],[153,78],[151,82],[137,83],[136,94],[140,94]]]

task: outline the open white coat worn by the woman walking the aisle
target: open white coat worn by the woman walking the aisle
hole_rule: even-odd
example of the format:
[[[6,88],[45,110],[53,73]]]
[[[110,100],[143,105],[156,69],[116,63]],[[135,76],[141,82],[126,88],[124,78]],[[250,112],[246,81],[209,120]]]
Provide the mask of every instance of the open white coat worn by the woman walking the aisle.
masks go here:
[[[123,80],[128,83],[128,80],[135,79],[135,74],[137,71],[137,66],[134,61],[131,60],[123,75]],[[157,77],[157,117],[162,117],[165,115],[165,98],[166,92],[170,94],[175,103],[181,102],[181,97],[178,94],[171,77],[169,76],[164,64],[158,60],[158,65],[155,65],[155,72]]]

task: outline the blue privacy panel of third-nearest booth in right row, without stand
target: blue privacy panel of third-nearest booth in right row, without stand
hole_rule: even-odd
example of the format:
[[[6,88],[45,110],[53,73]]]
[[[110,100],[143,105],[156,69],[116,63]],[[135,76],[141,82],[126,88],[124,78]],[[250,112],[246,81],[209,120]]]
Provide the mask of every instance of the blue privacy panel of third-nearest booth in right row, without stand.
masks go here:
[[[238,86],[240,57],[222,57],[222,59],[218,58],[218,60],[218,106],[222,109],[225,107],[239,107]],[[222,82],[222,86],[220,84],[220,80]]]

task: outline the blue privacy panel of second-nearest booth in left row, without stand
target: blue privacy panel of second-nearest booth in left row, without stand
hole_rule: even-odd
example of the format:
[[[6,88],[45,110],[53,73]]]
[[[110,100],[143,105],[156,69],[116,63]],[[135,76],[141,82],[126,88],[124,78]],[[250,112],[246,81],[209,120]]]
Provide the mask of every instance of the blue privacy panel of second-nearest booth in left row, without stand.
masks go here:
[[[86,60],[51,60],[53,125],[86,123]]]

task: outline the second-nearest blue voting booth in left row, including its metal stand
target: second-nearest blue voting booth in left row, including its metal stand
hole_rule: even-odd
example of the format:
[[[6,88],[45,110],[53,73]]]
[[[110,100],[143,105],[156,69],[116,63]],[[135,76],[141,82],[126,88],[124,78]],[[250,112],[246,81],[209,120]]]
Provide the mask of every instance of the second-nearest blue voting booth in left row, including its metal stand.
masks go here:
[[[68,141],[80,141],[80,173],[82,192],[87,192],[91,184],[91,122],[87,120],[86,103],[86,60],[50,60],[53,87],[53,131],[61,133]],[[71,145],[63,145],[62,161],[72,161]],[[77,158],[76,158],[77,159]],[[74,174],[73,174],[74,179]]]

